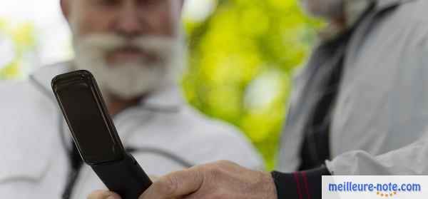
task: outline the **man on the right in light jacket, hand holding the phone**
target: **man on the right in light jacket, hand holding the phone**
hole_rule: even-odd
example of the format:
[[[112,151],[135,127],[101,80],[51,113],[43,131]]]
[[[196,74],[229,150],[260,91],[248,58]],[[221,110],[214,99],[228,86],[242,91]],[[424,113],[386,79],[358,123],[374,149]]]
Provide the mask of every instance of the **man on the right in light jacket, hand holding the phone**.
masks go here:
[[[280,172],[197,165],[161,177],[140,199],[313,199],[322,175],[428,174],[428,1],[300,3],[328,25],[295,76]],[[89,198],[109,196],[119,198]]]

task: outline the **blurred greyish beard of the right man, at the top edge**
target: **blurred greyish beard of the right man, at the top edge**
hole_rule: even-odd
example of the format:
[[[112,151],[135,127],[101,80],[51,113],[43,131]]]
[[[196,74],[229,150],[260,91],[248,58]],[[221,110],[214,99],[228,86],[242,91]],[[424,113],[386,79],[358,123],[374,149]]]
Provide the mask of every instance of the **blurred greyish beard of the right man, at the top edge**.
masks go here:
[[[300,0],[303,9],[311,16],[337,19],[343,15],[346,0]]]

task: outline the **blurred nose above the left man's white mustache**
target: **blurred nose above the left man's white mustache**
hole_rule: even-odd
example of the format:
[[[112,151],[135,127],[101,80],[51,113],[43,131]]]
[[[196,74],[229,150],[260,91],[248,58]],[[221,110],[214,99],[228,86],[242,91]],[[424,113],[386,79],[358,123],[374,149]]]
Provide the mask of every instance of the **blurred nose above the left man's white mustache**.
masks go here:
[[[132,38],[140,35],[143,31],[143,19],[138,14],[138,7],[133,5],[131,1],[126,1],[121,6],[116,23],[116,31],[122,36]]]

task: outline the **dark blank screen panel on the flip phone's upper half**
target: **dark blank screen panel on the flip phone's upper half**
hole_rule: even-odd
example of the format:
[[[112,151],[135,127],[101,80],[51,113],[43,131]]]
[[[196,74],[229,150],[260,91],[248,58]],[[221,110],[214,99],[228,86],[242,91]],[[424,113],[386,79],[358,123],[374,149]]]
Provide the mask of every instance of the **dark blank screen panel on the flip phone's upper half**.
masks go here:
[[[123,158],[121,146],[108,116],[103,113],[96,91],[84,81],[58,86],[56,95],[76,146],[89,164],[108,163]],[[108,114],[108,113],[107,113]],[[112,132],[115,131],[115,132]]]

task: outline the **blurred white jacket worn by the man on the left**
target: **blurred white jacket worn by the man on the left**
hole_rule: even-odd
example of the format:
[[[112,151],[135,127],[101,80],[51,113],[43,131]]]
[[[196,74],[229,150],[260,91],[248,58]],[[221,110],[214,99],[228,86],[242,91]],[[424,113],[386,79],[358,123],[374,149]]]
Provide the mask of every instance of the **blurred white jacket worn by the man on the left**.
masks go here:
[[[61,198],[70,163],[71,138],[51,91],[51,79],[68,63],[46,66],[29,81],[0,84],[0,198]],[[255,148],[237,128],[186,106],[170,86],[113,117],[121,141],[149,175],[189,165],[232,160],[263,168]],[[105,188],[83,165],[71,198]]]

